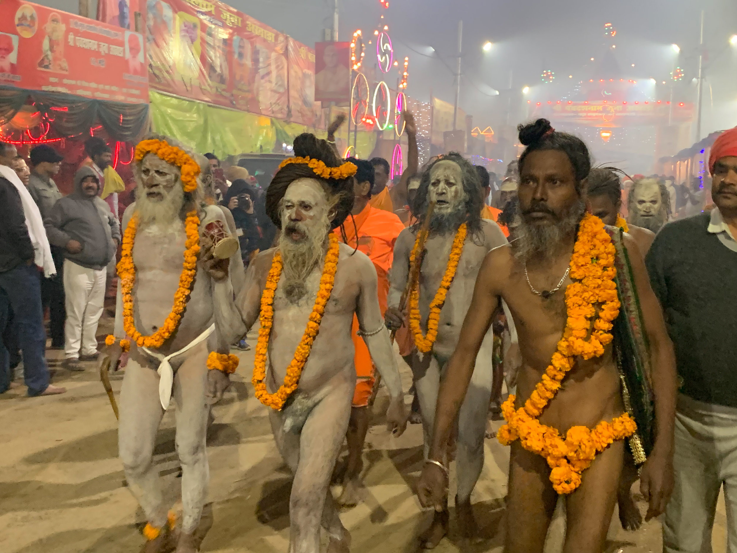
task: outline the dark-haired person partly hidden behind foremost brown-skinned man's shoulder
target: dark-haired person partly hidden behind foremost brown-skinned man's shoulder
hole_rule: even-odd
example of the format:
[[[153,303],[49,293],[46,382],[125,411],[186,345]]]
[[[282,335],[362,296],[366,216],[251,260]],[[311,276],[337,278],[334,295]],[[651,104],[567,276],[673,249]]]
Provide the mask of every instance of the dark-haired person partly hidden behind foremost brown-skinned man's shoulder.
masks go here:
[[[632,236],[640,248],[640,253],[645,255],[655,240],[655,233],[641,226],[628,224],[619,215],[622,207],[622,188],[618,173],[627,176],[616,167],[595,167],[591,170],[586,179],[589,209],[593,215],[604,221],[605,225],[618,226]]]

